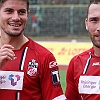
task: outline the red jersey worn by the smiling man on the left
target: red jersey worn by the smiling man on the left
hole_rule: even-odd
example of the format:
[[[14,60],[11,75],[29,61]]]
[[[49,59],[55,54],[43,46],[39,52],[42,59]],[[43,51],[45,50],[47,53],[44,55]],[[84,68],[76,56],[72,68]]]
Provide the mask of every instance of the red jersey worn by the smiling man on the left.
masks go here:
[[[23,89],[0,89],[0,100],[65,100],[51,52],[29,39],[14,53],[17,58],[7,62],[2,70],[24,72]]]

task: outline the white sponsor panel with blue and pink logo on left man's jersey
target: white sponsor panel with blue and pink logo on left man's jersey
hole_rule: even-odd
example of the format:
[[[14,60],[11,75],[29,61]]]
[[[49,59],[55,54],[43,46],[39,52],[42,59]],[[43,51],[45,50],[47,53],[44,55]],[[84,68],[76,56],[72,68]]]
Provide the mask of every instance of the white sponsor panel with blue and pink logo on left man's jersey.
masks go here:
[[[0,89],[22,90],[24,72],[0,71]]]

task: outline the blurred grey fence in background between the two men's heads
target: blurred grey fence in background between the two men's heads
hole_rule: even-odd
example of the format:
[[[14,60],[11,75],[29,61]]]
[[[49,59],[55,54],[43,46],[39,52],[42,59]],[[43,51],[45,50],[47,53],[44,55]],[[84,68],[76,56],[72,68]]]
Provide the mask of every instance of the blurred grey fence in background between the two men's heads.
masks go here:
[[[30,0],[31,13],[25,29],[26,35],[87,35],[84,20],[88,2],[89,0]]]

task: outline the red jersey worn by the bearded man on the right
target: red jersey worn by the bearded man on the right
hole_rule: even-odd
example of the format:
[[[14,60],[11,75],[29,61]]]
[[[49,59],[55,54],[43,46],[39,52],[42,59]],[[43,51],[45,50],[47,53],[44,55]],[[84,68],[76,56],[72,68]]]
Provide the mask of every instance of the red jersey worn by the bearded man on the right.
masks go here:
[[[99,91],[96,91],[95,93],[89,93],[91,91],[89,91],[87,94],[79,93],[80,76],[86,76],[86,77],[100,76],[100,57],[94,55],[93,48],[79,55],[76,55],[70,61],[67,70],[67,78],[66,78],[67,87],[65,95],[67,97],[67,100],[100,100],[100,94],[98,94],[100,88],[98,88]],[[86,79],[84,80],[85,81],[81,81],[81,84],[84,83],[82,87],[83,89],[86,88],[87,90],[88,89],[92,90],[91,88],[92,86],[94,86],[94,88],[100,87],[100,81],[96,85],[94,85],[94,83],[96,82],[91,82],[94,81],[94,79],[91,79],[91,81],[86,81]]]

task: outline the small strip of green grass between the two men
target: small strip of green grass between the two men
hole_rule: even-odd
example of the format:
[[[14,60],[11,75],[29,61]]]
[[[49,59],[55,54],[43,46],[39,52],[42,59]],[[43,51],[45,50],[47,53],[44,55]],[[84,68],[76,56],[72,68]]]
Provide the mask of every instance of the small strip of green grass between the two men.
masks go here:
[[[63,89],[63,92],[65,93],[66,88],[66,70],[59,70],[60,73],[60,82]]]

